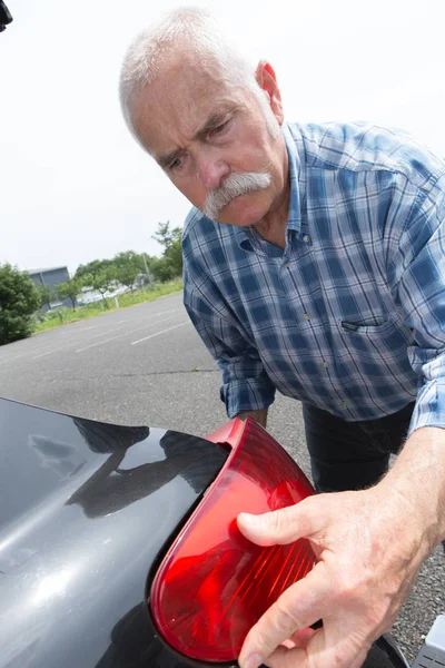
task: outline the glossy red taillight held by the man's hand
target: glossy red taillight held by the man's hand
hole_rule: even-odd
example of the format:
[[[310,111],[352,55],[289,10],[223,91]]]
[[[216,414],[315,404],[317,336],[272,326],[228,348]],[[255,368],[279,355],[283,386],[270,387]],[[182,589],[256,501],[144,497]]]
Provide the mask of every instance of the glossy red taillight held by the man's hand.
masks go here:
[[[231,661],[250,627],[315,562],[306,540],[270,548],[249,542],[236,517],[291,505],[314,490],[251,420],[235,419],[209,440],[229,442],[233,452],[165,557],[150,605],[171,647],[201,661]]]

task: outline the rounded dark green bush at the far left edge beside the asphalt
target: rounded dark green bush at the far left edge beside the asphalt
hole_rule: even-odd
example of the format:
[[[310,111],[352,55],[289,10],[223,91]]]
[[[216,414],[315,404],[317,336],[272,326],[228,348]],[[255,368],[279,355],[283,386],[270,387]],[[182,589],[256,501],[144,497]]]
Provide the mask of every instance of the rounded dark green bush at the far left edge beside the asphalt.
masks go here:
[[[41,298],[30,275],[10,264],[0,265],[0,345],[29,336],[32,314]]]

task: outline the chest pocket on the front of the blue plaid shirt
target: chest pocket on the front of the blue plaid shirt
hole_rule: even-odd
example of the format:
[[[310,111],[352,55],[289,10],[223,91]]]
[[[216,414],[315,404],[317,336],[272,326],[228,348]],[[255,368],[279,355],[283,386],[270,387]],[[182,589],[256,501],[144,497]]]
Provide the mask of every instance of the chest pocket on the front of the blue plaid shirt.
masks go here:
[[[342,340],[339,350],[346,357],[357,362],[372,360],[385,364],[386,369],[396,361],[407,362],[407,347],[414,341],[411,330],[398,315],[384,315],[373,323],[338,318],[337,331]]]

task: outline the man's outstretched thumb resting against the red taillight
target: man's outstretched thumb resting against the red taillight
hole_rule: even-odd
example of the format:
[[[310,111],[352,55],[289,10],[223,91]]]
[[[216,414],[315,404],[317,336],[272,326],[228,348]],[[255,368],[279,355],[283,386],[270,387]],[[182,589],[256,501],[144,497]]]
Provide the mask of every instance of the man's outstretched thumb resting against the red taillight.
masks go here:
[[[299,538],[310,538],[326,527],[323,505],[319,495],[260,515],[241,512],[237,517],[238,529],[258,546],[287,544]]]

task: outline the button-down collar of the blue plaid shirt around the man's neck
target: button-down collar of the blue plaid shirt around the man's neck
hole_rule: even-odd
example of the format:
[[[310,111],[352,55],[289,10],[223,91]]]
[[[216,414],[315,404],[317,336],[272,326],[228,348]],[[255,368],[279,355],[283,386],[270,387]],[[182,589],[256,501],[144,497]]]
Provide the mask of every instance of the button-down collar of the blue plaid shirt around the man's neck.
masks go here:
[[[299,134],[295,126],[291,128],[286,121],[281,126],[283,136],[286,144],[286,150],[289,165],[290,178],[290,200],[289,213],[287,217],[287,234],[290,230],[299,233],[301,228],[301,209],[299,194],[299,175],[300,175],[300,158],[298,155],[297,144],[300,140]],[[255,229],[251,227],[237,227],[234,225],[234,233],[238,245],[245,250],[253,250],[255,247]]]

